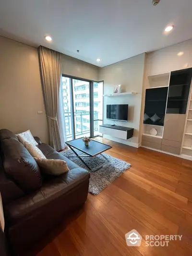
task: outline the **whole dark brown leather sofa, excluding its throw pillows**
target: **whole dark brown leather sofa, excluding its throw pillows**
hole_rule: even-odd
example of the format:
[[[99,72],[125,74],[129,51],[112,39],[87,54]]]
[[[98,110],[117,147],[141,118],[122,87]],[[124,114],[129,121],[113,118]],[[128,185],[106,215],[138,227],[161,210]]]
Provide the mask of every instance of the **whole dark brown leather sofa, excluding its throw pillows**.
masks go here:
[[[38,137],[48,159],[63,159],[70,171],[42,176],[34,158],[7,129],[0,130],[0,192],[13,250],[24,251],[86,201],[90,174]]]

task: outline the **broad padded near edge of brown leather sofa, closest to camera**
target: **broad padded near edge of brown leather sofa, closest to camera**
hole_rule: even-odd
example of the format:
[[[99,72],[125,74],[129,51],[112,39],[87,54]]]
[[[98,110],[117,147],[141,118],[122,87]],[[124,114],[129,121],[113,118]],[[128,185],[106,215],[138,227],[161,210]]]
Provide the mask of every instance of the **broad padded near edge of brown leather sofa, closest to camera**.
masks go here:
[[[44,182],[42,187],[33,194],[21,197],[5,207],[5,217],[9,221],[9,225],[15,225],[20,220],[35,216],[52,201],[67,195],[78,185],[86,183],[89,177],[90,173],[79,167]],[[77,201],[78,196],[80,195],[76,195]],[[67,208],[68,205],[62,207]]]

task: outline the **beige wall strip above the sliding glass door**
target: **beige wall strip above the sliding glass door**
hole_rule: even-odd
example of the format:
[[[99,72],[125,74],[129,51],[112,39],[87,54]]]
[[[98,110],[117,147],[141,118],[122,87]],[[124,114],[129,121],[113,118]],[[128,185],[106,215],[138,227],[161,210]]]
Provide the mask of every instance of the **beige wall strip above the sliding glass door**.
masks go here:
[[[62,73],[88,80],[98,81],[99,67],[84,61],[62,55]]]

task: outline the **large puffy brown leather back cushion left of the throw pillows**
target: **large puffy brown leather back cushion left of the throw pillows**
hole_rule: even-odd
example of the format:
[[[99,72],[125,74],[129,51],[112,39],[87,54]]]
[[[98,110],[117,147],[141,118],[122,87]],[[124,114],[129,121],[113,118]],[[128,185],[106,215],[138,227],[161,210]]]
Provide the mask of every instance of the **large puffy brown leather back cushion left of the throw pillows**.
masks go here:
[[[0,137],[1,159],[5,173],[25,192],[41,187],[42,180],[35,159],[18,139]]]

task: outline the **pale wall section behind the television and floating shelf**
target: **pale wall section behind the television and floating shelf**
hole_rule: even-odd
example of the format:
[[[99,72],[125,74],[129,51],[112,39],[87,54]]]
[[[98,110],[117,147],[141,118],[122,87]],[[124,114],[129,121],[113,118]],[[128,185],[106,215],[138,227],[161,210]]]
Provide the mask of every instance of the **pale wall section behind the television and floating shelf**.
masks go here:
[[[104,97],[104,124],[113,124],[113,121],[107,120],[106,118],[107,104],[129,104],[128,122],[118,122],[118,125],[134,128],[134,137],[132,139],[122,140],[104,135],[105,138],[132,146],[138,146],[140,143],[139,129],[144,61],[145,53],[114,63],[99,70],[99,80],[104,80],[104,94],[113,93],[115,85],[121,85],[121,92],[135,91],[138,93],[135,96]]]

